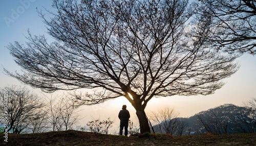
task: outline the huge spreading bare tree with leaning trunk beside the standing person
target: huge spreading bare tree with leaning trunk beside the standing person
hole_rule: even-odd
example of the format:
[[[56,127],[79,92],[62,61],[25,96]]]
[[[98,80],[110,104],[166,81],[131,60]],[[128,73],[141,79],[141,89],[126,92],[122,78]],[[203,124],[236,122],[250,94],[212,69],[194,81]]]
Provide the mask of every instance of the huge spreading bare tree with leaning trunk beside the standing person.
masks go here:
[[[39,14],[58,42],[29,33],[27,45],[8,46],[23,74],[5,71],[48,92],[91,89],[75,94],[84,105],[124,96],[136,109],[140,132],[150,132],[144,109],[153,97],[211,94],[238,69],[237,56],[191,37],[187,25],[194,11],[188,4],[54,0],[51,19]],[[205,27],[196,26],[207,35]]]

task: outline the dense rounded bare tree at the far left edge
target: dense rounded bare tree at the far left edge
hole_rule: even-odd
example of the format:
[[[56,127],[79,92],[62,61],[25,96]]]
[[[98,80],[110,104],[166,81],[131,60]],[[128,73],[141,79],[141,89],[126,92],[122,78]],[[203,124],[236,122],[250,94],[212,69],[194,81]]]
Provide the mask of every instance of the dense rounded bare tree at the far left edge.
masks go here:
[[[8,111],[8,131],[16,134],[26,132],[31,122],[29,119],[38,113],[38,109],[43,107],[43,104],[35,93],[31,93],[25,87],[13,85],[5,87],[5,89],[8,91],[8,106],[6,107],[6,111]],[[6,113],[4,110],[5,95],[2,91],[0,93],[2,101],[0,104],[1,116],[4,115],[2,113]]]

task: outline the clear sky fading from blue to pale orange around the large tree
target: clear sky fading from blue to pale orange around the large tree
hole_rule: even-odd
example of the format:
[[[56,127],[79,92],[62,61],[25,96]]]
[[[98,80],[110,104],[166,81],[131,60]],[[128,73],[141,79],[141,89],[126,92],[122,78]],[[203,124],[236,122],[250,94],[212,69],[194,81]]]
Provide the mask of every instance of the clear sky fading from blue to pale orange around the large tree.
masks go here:
[[[3,73],[3,68],[12,72],[20,67],[15,64],[13,57],[9,54],[6,46],[11,42],[26,42],[25,36],[30,30],[32,35],[45,34],[49,41],[53,39],[48,36],[45,24],[38,16],[38,10],[44,10],[44,7],[55,11],[51,8],[51,1],[45,0],[21,0],[21,1],[0,1],[0,87],[4,88],[8,85],[23,85],[14,78],[8,77]],[[221,89],[211,95],[196,96],[170,96],[159,99],[152,99],[148,102],[146,113],[157,111],[159,108],[170,107],[175,108],[182,117],[192,116],[200,111],[214,108],[223,104],[235,104],[242,106],[243,102],[256,98],[256,56],[245,54],[240,57],[237,62],[240,69],[236,74],[224,80],[226,83]],[[24,85],[23,85],[24,86]],[[29,89],[40,94],[40,89]],[[59,91],[62,93],[65,91]],[[80,125],[86,125],[91,117],[105,119],[111,117],[115,121],[119,121],[117,115],[122,105],[126,104],[127,109],[131,113],[131,119],[136,120],[135,110],[125,98],[118,98],[103,104],[95,106],[83,106],[81,114],[84,118],[80,121]],[[117,122],[118,123],[118,122]],[[115,126],[114,126],[115,127]]]

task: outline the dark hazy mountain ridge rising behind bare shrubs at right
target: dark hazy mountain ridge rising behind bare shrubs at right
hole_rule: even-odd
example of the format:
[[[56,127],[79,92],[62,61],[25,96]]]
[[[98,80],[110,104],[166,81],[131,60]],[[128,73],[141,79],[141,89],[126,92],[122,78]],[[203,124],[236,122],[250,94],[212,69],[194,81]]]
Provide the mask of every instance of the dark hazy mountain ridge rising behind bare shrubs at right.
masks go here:
[[[212,134],[233,134],[233,133],[255,133],[256,124],[255,117],[245,107],[239,107],[233,104],[224,104],[215,108],[201,111],[194,116],[188,118],[172,119],[174,121],[185,121],[185,127],[182,129],[176,128],[173,135],[201,135],[205,133]],[[153,128],[156,133],[167,133],[163,127],[166,127],[166,121],[160,125],[155,125]],[[181,127],[179,124],[169,125],[175,130],[175,127]],[[161,130],[160,130],[161,129]]]

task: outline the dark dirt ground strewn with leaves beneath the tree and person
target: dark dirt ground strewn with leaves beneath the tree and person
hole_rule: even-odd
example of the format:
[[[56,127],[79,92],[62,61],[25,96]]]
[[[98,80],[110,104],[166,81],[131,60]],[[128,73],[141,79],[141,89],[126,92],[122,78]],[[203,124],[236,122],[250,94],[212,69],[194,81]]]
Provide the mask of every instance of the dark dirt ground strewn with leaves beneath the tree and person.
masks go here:
[[[0,145],[256,145],[256,133],[172,136],[167,134],[137,134],[119,136],[75,130],[34,133],[0,134]]]

